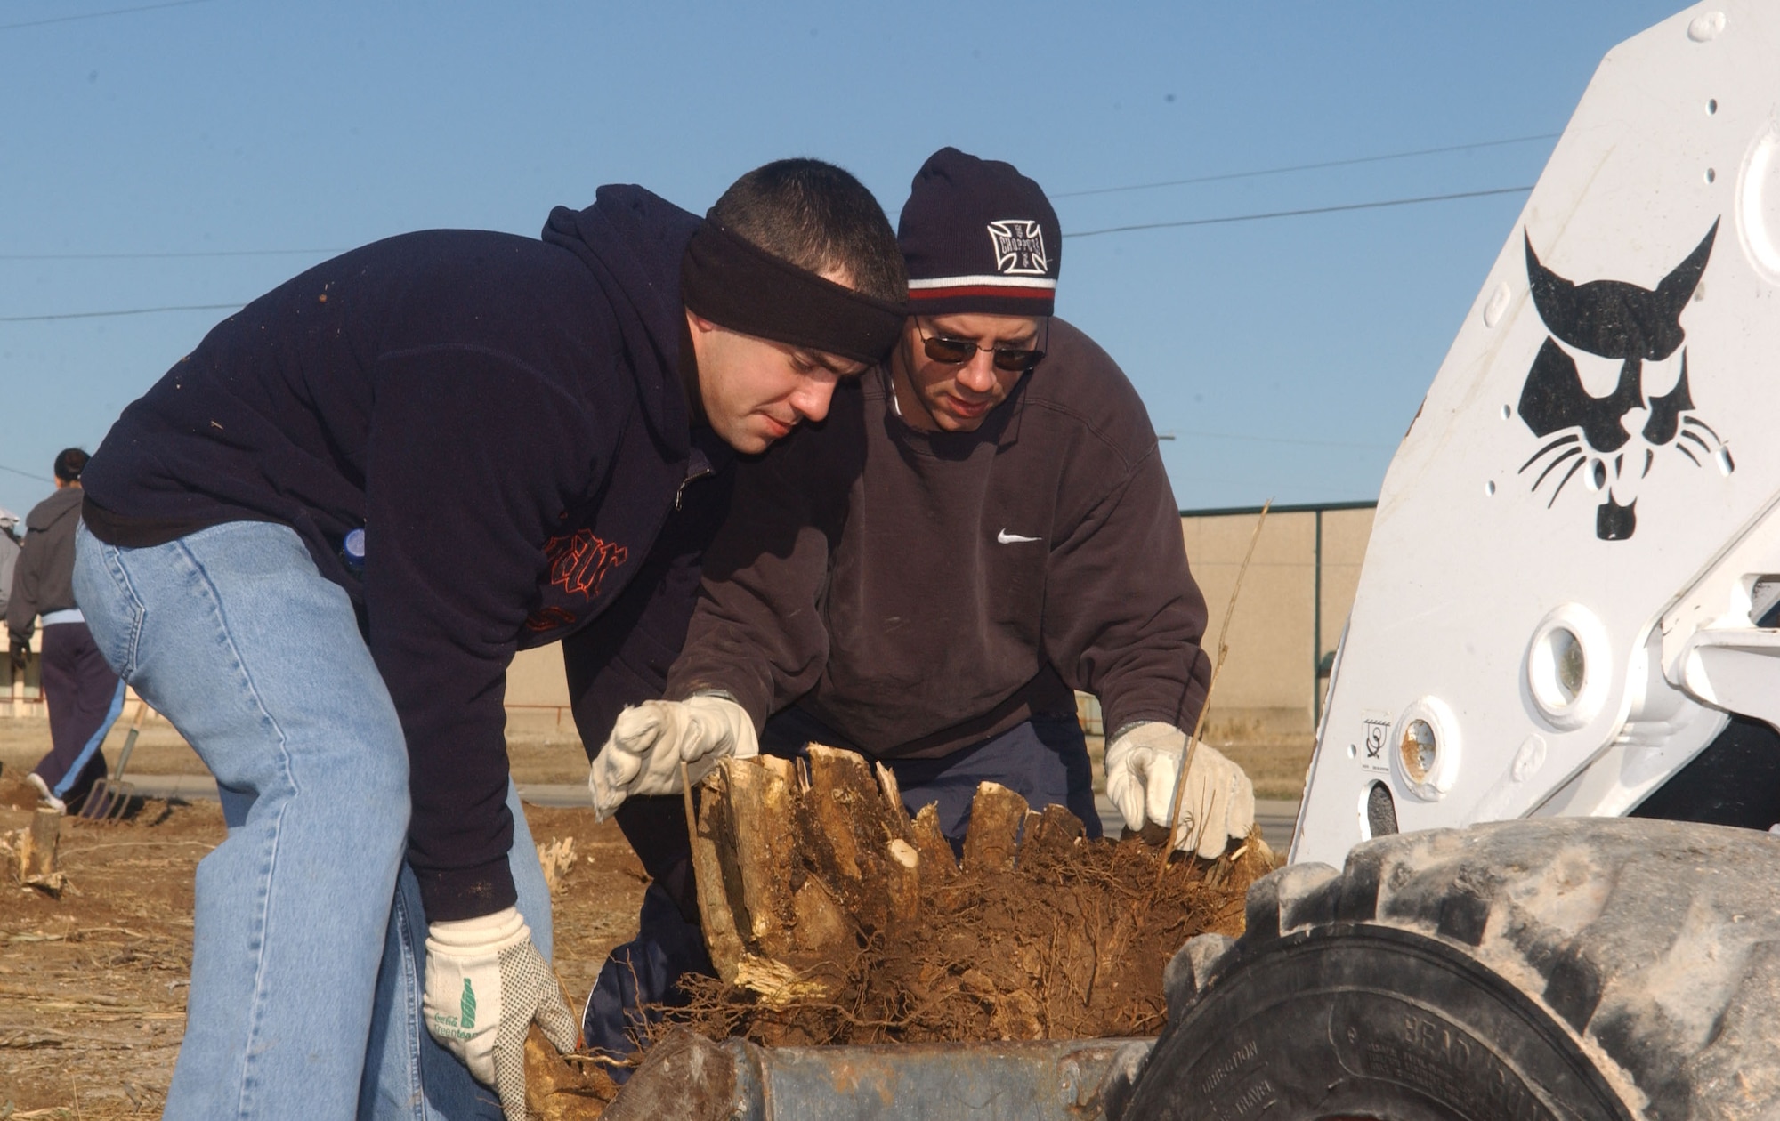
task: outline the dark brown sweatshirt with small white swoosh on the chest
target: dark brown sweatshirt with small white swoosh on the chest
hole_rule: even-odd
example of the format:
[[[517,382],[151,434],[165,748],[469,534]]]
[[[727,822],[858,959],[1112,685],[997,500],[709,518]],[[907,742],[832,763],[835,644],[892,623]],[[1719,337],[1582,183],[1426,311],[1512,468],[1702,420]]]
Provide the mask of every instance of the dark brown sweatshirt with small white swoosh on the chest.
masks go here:
[[[881,758],[934,758],[1100,698],[1191,728],[1205,600],[1136,390],[1052,320],[975,432],[920,432],[879,367],[737,475],[668,696],[797,703]]]

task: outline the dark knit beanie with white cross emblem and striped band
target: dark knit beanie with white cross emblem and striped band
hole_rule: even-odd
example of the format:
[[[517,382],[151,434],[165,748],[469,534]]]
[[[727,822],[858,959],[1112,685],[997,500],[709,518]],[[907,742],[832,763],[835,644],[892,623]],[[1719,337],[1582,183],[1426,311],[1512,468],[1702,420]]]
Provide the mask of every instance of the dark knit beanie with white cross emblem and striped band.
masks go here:
[[[897,244],[915,315],[1050,315],[1063,228],[1038,183],[1013,164],[956,148],[927,157]]]

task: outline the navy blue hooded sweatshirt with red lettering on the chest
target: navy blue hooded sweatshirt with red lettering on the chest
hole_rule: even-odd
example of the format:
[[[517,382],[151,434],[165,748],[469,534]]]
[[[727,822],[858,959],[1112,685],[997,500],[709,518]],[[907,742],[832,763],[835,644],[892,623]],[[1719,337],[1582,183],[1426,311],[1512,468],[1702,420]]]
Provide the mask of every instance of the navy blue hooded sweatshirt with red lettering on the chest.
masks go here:
[[[692,480],[730,459],[680,377],[696,226],[602,187],[541,240],[434,230],[354,249],[212,329],[87,464],[105,541],[279,521],[347,589],[408,738],[433,922],[514,902],[514,651],[582,632],[564,653],[598,744],[625,703],[660,696],[685,633],[728,505],[728,472]],[[342,552],[354,528],[361,564]]]

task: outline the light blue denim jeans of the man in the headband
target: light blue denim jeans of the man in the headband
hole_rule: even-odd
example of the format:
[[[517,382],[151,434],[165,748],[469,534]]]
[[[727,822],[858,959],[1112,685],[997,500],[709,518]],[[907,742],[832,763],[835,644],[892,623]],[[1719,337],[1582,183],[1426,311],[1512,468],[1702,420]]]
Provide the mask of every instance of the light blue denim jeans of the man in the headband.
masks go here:
[[[77,537],[105,660],[198,751],[228,836],[198,865],[169,1117],[498,1117],[420,1020],[425,918],[402,861],[408,749],[345,591],[294,530],[151,548]],[[550,899],[509,785],[520,911]]]

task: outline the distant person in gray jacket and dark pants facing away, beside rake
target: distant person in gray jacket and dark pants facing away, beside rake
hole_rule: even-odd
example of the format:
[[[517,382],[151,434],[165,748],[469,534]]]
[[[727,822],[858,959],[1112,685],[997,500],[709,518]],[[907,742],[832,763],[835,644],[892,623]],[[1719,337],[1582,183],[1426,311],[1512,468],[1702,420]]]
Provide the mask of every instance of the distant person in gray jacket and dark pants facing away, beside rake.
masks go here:
[[[5,626],[18,673],[30,635],[43,621],[43,699],[50,705],[50,753],[25,776],[37,801],[66,813],[105,778],[100,744],[123,710],[123,680],[93,642],[75,605],[75,530],[80,527],[80,473],[87,454],[64,448],[55,457],[55,493],[25,516],[25,543],[12,566]],[[5,546],[0,544],[0,550]],[[0,559],[4,566],[4,559]]]

